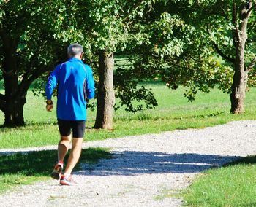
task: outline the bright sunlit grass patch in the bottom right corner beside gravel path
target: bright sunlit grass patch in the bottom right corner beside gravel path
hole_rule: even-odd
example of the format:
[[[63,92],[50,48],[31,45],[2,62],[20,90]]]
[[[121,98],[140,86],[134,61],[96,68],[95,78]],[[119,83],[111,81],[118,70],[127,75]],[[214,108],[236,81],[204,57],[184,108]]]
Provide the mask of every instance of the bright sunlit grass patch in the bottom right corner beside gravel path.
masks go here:
[[[256,206],[256,156],[198,176],[187,189],[188,206]]]

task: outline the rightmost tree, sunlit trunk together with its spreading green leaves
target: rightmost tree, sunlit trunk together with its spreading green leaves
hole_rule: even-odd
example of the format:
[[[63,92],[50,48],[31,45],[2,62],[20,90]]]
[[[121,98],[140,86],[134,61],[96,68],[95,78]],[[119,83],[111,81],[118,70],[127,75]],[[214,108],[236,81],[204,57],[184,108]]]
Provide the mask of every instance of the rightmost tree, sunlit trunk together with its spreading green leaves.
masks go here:
[[[144,27],[150,43],[143,45],[137,70],[151,71],[173,89],[188,86],[189,101],[197,90],[218,85],[230,93],[230,112],[244,112],[247,76],[256,61],[255,1],[157,1],[154,8]]]

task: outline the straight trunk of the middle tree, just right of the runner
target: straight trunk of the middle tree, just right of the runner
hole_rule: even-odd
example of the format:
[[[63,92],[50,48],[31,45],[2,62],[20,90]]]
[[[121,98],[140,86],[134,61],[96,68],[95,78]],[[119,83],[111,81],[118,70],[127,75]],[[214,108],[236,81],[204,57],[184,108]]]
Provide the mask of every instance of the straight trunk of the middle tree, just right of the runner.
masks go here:
[[[113,129],[113,106],[115,92],[113,88],[113,53],[99,52],[99,87],[97,94],[97,116],[94,128]]]

